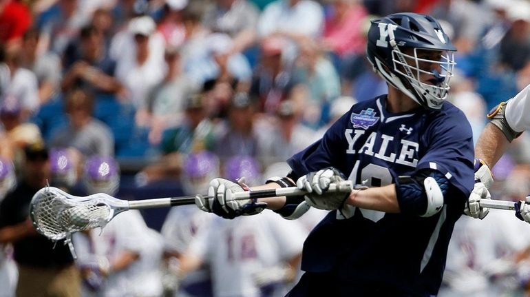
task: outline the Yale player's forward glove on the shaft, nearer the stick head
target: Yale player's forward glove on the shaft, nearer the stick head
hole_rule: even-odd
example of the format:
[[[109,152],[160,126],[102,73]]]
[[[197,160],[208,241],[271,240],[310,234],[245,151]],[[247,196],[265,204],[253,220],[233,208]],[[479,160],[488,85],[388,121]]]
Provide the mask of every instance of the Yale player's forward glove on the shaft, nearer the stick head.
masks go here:
[[[235,200],[234,194],[243,192],[241,185],[224,178],[214,178],[208,188],[208,196],[213,198],[195,196],[195,205],[204,212],[213,212],[223,218],[248,216],[259,214],[267,207],[267,203],[257,203],[254,199]]]

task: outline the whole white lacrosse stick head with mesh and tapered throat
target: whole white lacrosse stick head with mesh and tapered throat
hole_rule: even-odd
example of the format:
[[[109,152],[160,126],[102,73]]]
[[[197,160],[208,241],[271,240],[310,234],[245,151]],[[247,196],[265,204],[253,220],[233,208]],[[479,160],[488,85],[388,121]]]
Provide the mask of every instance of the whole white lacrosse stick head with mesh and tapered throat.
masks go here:
[[[107,194],[78,197],[56,187],[44,187],[32,198],[30,218],[40,234],[61,240],[69,239],[74,232],[103,228],[127,209],[127,201]]]

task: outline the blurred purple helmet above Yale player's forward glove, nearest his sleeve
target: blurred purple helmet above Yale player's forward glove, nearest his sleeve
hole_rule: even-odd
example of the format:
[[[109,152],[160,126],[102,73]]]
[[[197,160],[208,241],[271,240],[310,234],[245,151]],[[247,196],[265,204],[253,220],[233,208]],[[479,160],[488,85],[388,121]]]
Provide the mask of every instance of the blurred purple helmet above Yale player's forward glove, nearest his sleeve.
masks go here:
[[[262,178],[262,167],[251,156],[233,156],[223,167],[224,175],[230,181],[244,177],[248,185],[258,185]]]

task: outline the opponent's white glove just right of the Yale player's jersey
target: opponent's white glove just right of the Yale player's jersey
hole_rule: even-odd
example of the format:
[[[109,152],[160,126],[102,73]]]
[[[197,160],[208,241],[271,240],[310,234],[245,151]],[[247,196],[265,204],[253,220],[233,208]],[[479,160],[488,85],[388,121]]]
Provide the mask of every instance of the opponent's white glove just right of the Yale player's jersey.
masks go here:
[[[480,207],[480,199],[491,199],[488,188],[494,182],[488,165],[479,158],[475,158],[475,185],[467,198],[464,214],[481,220],[489,213],[489,208]]]

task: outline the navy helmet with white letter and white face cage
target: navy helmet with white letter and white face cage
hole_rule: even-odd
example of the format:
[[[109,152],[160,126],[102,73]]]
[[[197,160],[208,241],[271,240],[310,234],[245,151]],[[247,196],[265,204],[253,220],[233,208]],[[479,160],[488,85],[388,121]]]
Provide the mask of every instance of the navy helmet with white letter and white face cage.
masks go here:
[[[374,71],[411,99],[439,110],[453,76],[454,45],[425,14],[390,14],[372,20],[366,53]]]

